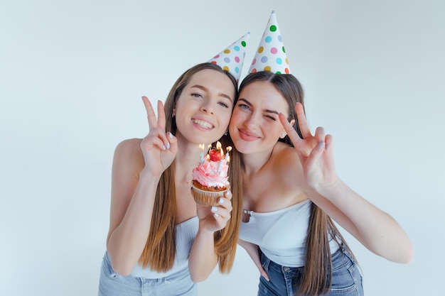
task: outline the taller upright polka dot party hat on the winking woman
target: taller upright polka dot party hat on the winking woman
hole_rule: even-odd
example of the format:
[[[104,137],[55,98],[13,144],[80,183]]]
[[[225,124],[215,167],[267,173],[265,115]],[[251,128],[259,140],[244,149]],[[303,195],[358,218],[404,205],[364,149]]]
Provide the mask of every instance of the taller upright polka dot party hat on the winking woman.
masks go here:
[[[291,72],[282,34],[279,33],[275,11],[272,11],[249,69],[249,73],[257,71],[274,72],[277,74],[289,74]]]

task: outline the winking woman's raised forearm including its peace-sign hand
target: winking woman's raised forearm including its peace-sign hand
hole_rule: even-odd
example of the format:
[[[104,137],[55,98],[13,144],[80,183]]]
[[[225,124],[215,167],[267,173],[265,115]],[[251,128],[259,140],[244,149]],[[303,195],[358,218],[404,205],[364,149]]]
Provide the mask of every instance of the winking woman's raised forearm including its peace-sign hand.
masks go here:
[[[313,136],[301,104],[296,113],[304,139],[280,114],[294,143],[309,189],[309,198],[373,253],[398,263],[412,261],[412,243],[397,221],[351,190],[336,175],[333,137],[317,128]]]

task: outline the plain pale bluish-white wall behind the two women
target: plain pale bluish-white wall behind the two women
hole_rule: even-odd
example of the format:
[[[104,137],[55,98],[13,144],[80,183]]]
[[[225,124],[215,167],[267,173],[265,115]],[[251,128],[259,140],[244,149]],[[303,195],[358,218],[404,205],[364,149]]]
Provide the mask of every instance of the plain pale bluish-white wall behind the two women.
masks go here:
[[[366,295],[444,295],[444,1],[276,2],[0,2],[0,295],[97,294],[112,155],[148,131],[141,95],[165,99],[250,31],[245,75],[272,10],[338,174],[414,244],[400,265],[346,235]],[[257,278],[239,249],[200,295],[253,296]]]

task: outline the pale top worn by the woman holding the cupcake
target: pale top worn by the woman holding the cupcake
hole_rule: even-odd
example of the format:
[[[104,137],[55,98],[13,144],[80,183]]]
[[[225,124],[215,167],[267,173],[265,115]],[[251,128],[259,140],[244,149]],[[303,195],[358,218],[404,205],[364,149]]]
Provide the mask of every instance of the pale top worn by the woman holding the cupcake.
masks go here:
[[[136,263],[132,270],[132,276],[140,278],[165,278],[168,275],[186,268],[188,265],[188,255],[195,241],[195,236],[198,234],[199,220],[198,216],[183,221],[181,224],[175,226],[176,229],[176,258],[173,268],[165,273],[159,273],[151,270],[149,267],[142,268],[142,265]]]

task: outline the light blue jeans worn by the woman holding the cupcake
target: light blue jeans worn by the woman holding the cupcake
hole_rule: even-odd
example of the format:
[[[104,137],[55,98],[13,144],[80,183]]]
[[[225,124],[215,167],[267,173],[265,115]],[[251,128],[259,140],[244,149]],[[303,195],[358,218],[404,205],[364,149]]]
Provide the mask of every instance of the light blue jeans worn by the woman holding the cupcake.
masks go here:
[[[137,278],[119,275],[112,269],[108,254],[102,260],[99,296],[196,296],[198,286],[193,283],[188,266],[166,278]]]

